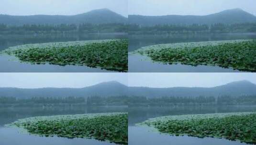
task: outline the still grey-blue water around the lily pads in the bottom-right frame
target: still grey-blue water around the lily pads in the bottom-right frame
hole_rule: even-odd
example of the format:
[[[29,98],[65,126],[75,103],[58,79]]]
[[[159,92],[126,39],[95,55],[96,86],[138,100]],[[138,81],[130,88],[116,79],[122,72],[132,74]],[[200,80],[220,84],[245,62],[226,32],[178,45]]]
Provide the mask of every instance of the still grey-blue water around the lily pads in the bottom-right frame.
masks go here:
[[[178,107],[129,107],[129,145],[246,145],[219,138],[170,136],[136,126],[149,118],[181,115],[256,111],[256,106],[178,106]]]

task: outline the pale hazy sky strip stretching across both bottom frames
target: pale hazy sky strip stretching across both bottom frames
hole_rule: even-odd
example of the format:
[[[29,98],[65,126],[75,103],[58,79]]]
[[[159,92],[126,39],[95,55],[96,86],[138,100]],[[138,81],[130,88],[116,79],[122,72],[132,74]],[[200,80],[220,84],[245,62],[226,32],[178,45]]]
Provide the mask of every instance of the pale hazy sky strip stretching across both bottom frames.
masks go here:
[[[212,79],[214,78],[214,79]],[[116,81],[126,86],[215,87],[236,81],[256,84],[254,73],[0,73],[0,88],[83,88]]]

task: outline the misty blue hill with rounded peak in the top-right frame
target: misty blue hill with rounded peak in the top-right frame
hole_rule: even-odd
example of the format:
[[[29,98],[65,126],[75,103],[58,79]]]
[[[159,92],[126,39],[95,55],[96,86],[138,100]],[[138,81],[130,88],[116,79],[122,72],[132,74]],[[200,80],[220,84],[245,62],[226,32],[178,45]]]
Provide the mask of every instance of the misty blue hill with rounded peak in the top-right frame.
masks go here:
[[[245,23],[256,22],[256,16],[242,10],[224,10],[205,16],[195,15],[166,15],[166,16],[142,16],[129,15],[129,23],[140,25],[156,24],[214,24],[214,23]]]

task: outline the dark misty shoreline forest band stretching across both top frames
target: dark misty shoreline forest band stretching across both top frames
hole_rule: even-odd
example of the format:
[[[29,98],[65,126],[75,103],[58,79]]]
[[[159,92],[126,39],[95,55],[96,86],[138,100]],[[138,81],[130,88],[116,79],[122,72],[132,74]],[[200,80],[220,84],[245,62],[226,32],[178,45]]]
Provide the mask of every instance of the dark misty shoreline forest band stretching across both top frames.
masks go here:
[[[109,32],[130,32],[130,33],[180,33],[180,32],[256,32],[256,23],[237,23],[237,24],[165,24],[155,26],[141,26],[139,24],[107,23],[107,24],[24,24],[12,26],[0,24],[0,34],[25,34],[25,33],[50,33],[50,32],[87,32],[87,33],[109,33]]]

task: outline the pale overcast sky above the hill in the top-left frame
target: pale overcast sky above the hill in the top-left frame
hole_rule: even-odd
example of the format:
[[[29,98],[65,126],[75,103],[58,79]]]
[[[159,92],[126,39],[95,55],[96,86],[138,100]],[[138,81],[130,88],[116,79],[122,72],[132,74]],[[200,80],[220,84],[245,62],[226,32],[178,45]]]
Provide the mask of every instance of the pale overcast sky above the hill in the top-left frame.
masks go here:
[[[75,15],[107,8],[123,16],[128,13],[127,0],[1,0],[0,14]]]

